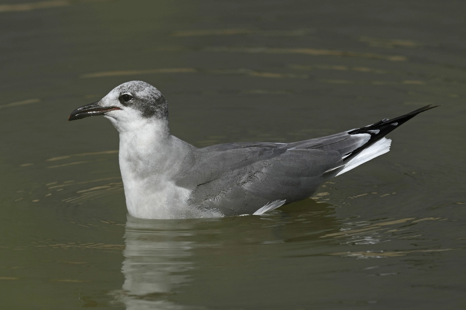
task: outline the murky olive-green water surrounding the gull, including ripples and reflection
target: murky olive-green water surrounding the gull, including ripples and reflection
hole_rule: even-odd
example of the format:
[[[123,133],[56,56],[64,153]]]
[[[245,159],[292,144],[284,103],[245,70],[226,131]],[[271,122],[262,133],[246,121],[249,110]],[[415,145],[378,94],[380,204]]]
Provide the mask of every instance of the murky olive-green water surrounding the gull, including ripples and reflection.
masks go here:
[[[2,309],[463,309],[461,1],[0,4]],[[127,218],[110,122],[142,79],[196,146],[290,142],[442,104],[271,214]]]

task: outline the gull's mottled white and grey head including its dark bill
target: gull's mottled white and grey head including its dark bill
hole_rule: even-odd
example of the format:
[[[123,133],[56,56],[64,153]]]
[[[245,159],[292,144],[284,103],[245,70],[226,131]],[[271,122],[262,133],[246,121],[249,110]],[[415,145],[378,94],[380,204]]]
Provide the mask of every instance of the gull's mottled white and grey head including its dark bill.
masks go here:
[[[131,81],[115,87],[100,101],[82,106],[69,120],[103,115],[119,132],[134,131],[154,119],[168,122],[168,105],[157,88],[142,81]]]

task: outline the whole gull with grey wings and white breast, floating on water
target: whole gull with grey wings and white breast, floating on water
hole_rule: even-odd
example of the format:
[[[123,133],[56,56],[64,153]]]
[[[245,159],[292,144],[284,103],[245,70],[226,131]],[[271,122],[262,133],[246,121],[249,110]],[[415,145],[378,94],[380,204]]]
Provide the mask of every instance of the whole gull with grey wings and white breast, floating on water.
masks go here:
[[[69,120],[103,115],[119,132],[131,216],[206,218],[259,215],[309,198],[329,178],[388,152],[387,133],[434,107],[322,138],[197,148],[170,134],[162,93],[143,81],[130,81],[77,108]]]

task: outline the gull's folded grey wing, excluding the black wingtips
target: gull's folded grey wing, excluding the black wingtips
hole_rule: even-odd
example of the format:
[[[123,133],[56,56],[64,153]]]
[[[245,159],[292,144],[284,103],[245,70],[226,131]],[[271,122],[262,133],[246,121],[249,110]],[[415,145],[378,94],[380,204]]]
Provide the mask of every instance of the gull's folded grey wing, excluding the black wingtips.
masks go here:
[[[276,200],[310,197],[343,165],[343,156],[369,135],[347,132],[294,143],[245,142],[199,149],[182,183],[194,184],[188,203],[219,209],[226,216],[252,214]]]

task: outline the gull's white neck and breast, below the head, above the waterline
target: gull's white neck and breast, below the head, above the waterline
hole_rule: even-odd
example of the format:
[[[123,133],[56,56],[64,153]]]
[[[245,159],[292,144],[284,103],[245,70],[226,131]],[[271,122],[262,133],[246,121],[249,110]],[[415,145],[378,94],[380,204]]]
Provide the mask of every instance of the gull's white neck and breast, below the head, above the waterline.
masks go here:
[[[156,127],[154,125],[154,127]],[[137,218],[204,218],[221,212],[188,205],[193,189],[175,184],[192,146],[158,130],[120,132],[119,162],[126,206]]]

